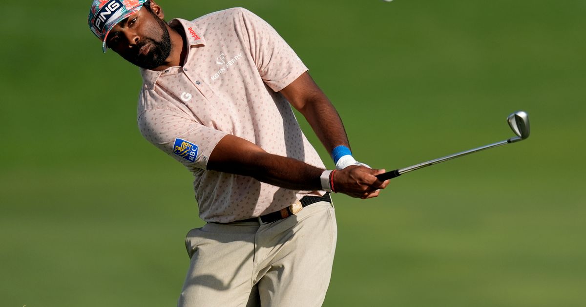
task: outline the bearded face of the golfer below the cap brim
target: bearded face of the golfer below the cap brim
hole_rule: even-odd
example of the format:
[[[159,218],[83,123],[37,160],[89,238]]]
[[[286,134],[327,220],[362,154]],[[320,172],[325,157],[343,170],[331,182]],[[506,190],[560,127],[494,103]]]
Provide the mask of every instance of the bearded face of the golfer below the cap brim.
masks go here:
[[[106,44],[125,60],[147,69],[161,66],[171,53],[165,22],[144,7],[115,25]]]

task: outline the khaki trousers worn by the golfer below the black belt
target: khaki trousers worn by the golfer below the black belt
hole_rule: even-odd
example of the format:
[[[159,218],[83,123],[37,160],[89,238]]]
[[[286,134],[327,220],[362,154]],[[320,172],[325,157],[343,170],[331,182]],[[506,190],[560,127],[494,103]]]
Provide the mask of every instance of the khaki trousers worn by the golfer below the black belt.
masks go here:
[[[178,306],[321,306],[337,234],[329,202],[263,225],[207,223],[192,229]]]

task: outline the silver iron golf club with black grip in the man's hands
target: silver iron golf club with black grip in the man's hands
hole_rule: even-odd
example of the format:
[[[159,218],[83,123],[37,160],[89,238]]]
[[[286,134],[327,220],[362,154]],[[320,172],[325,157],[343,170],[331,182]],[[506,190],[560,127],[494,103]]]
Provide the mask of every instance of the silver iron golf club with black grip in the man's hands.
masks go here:
[[[444,161],[452,160],[453,158],[466,156],[466,154],[475,153],[476,151],[481,151],[481,150],[485,150],[485,149],[489,149],[489,148],[493,148],[493,147],[498,147],[498,146],[509,144],[509,143],[519,142],[520,140],[524,140],[524,139],[527,139],[527,137],[529,137],[529,115],[526,112],[517,111],[517,112],[512,113],[511,115],[509,115],[507,117],[507,122],[509,122],[509,126],[511,127],[513,132],[515,132],[515,134],[517,136],[511,137],[510,139],[504,140],[501,142],[489,144],[489,145],[478,147],[478,148],[471,149],[471,150],[462,151],[460,153],[451,154],[449,156],[437,158],[435,160],[430,160],[430,161],[427,161],[424,163],[411,165],[410,167],[400,168],[400,169],[397,169],[394,171],[389,171],[387,173],[377,175],[376,177],[379,178],[379,180],[387,180],[387,179],[395,178],[395,177],[398,177],[402,174],[409,173],[410,171],[419,170],[420,168],[424,168],[424,167],[427,167],[430,165],[434,165],[434,164],[438,164],[438,163],[441,163]]]

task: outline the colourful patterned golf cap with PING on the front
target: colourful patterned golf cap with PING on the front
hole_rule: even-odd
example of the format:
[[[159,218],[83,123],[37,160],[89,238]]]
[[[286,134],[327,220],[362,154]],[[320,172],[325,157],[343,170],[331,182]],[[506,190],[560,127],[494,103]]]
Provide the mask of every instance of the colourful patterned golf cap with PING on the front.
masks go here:
[[[87,23],[91,32],[102,41],[102,51],[108,49],[106,37],[118,23],[137,12],[148,0],[94,0]]]

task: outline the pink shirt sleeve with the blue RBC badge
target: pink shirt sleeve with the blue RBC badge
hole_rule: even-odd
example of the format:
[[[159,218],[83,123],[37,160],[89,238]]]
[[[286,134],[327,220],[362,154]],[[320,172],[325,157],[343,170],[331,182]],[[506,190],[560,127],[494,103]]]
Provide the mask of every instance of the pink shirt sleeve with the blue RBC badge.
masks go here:
[[[148,142],[191,171],[206,169],[207,161],[225,132],[194,122],[180,112],[150,109],[138,116],[138,129]]]

